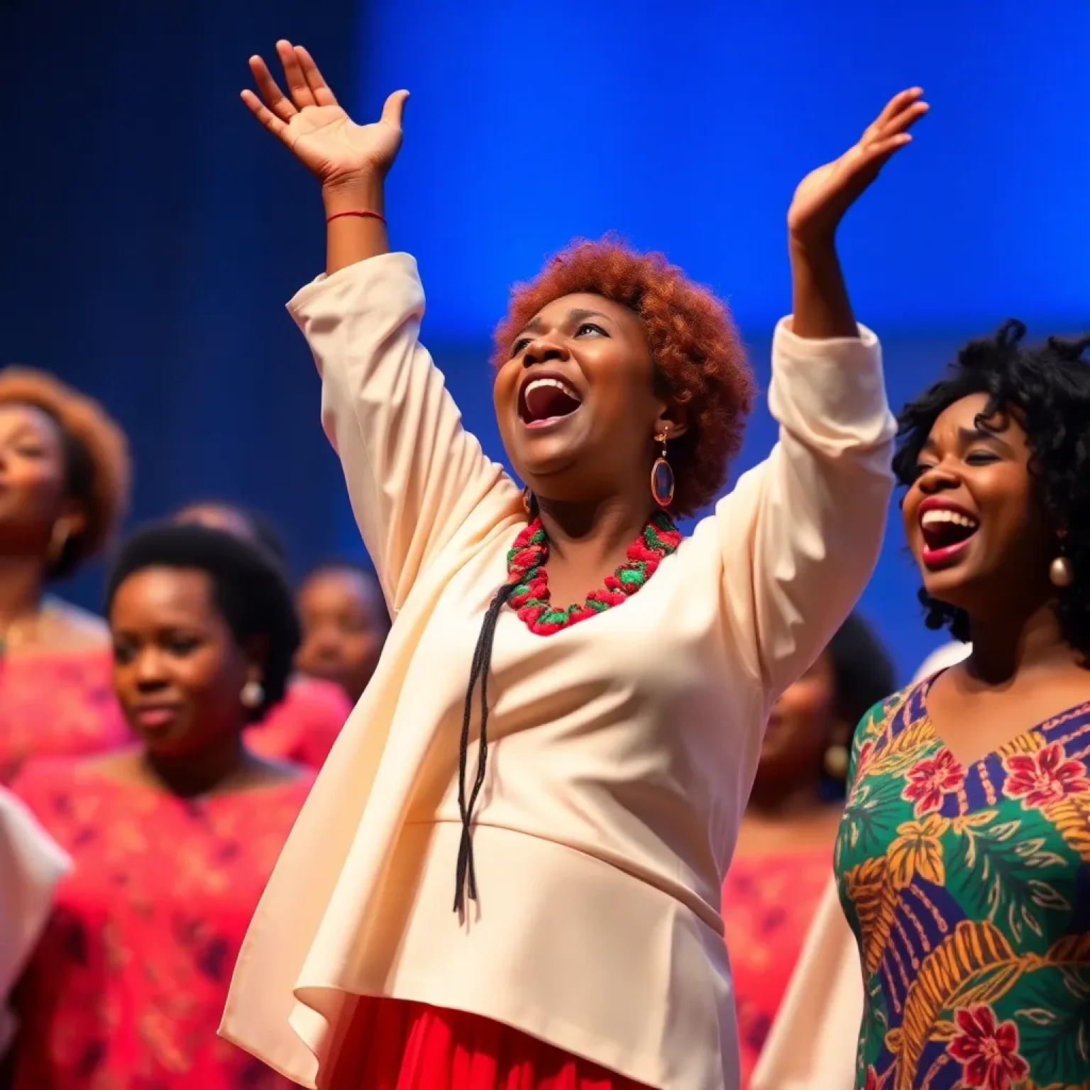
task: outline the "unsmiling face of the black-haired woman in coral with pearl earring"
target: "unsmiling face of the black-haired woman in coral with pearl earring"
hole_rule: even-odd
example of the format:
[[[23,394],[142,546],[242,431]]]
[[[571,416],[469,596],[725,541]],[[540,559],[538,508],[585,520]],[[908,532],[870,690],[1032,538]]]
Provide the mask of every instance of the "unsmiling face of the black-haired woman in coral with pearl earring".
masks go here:
[[[133,572],[113,596],[110,629],[114,690],[149,750],[192,754],[243,728],[240,693],[259,671],[216,608],[206,572]]]

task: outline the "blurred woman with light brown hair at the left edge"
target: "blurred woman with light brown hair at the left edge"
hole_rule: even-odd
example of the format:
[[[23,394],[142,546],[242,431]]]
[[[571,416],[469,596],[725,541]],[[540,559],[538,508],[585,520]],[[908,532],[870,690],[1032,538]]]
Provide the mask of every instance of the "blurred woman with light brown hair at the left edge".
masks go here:
[[[101,407],[43,372],[0,371],[0,783],[29,756],[130,740],[106,623],[46,593],[105,548],[130,475]]]

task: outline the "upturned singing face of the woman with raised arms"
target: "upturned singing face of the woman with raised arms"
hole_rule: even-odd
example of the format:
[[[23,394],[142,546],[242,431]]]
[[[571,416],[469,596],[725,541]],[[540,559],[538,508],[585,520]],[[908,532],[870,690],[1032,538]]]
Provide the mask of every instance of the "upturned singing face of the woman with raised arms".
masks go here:
[[[542,498],[597,500],[642,487],[654,436],[681,432],[656,391],[639,317],[601,295],[542,307],[496,374],[496,419],[516,471]]]

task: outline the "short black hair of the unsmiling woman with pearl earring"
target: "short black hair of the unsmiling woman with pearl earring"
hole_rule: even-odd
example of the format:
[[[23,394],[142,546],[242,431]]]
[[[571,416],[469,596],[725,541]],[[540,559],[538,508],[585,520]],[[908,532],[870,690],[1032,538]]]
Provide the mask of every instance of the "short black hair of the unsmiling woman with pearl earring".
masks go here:
[[[157,522],[137,530],[119,549],[106,592],[109,616],[118,588],[145,568],[187,568],[211,579],[214,602],[239,645],[254,635],[267,641],[262,669],[264,701],[247,708],[251,723],[283,700],[299,647],[300,628],[291,589],[261,546],[199,523]]]

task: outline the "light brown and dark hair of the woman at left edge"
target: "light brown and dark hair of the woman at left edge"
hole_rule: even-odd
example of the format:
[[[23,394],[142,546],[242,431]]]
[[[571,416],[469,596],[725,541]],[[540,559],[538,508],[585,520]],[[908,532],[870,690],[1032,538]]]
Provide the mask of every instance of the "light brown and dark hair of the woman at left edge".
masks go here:
[[[97,401],[33,367],[0,370],[0,404],[33,405],[60,428],[68,497],[86,520],[48,572],[53,579],[69,576],[106,548],[124,518],[132,482],[124,432]]]

